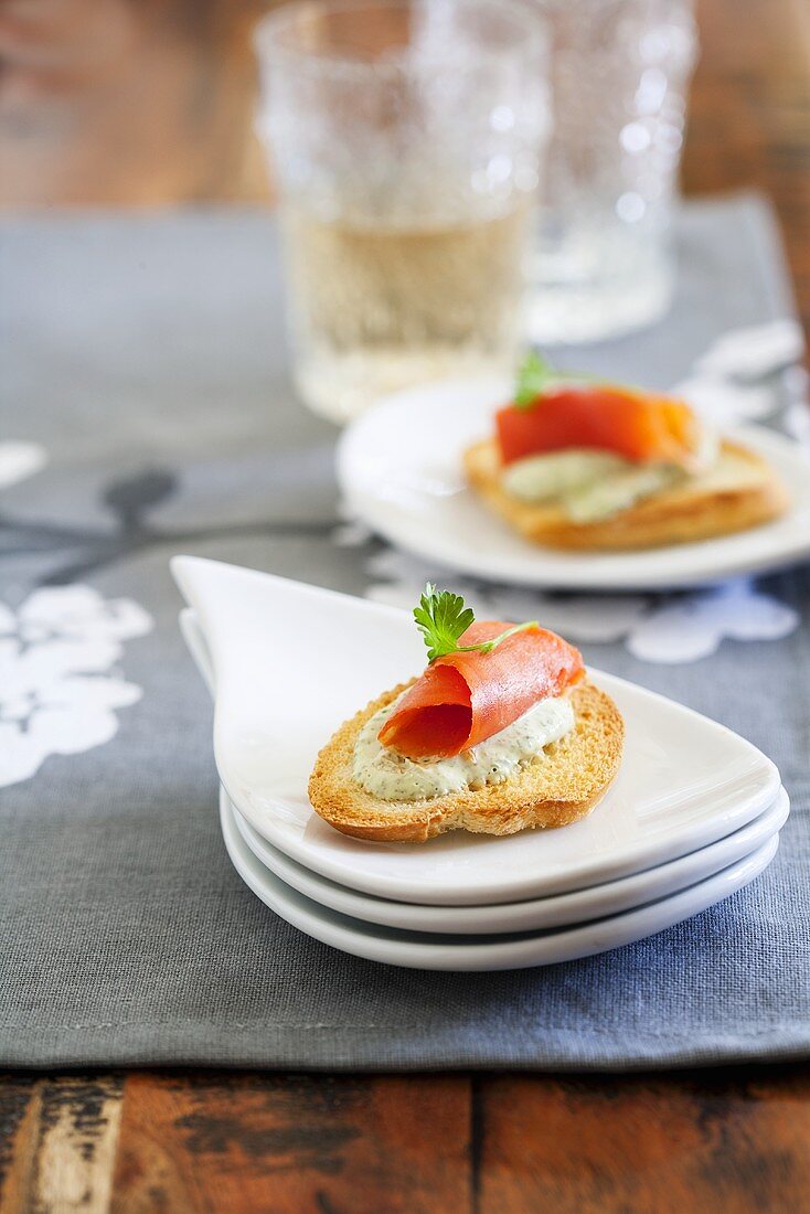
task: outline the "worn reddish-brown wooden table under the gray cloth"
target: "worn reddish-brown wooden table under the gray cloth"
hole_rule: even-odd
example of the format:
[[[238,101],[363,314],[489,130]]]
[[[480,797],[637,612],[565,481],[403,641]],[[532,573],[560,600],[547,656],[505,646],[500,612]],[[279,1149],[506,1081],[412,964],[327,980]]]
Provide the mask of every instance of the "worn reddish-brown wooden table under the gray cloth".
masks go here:
[[[80,70],[68,86],[64,73],[34,86],[15,67],[24,5],[0,7],[0,204],[264,195],[245,134],[257,5],[145,0],[121,10],[132,25],[121,33],[120,0],[107,0],[128,53],[120,70],[85,68],[84,90]],[[810,330],[810,10],[699,0],[698,16],[686,189],[771,195]],[[1,1077],[0,1210],[74,1209],[810,1210],[810,1067]]]

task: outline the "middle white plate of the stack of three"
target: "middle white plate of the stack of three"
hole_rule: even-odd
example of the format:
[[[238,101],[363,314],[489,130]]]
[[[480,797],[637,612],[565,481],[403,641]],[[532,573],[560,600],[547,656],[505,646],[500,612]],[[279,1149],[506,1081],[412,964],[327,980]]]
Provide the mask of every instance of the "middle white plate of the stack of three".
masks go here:
[[[222,795],[227,796],[227,793],[222,790]],[[621,910],[652,902],[655,898],[676,894],[755,851],[784,826],[791,802],[782,788],[770,809],[748,826],[708,847],[681,856],[680,860],[673,860],[669,864],[650,868],[645,873],[608,881],[607,885],[591,885],[588,890],[572,890],[570,894],[557,894],[529,902],[506,902],[503,906],[486,907],[431,907],[413,902],[391,902],[387,898],[359,894],[345,885],[336,885],[296,864],[294,860],[256,834],[230,800],[228,806],[239,834],[256,860],[299,894],[305,894],[330,910],[339,910],[366,923],[406,931],[495,935],[570,926],[618,914]]]

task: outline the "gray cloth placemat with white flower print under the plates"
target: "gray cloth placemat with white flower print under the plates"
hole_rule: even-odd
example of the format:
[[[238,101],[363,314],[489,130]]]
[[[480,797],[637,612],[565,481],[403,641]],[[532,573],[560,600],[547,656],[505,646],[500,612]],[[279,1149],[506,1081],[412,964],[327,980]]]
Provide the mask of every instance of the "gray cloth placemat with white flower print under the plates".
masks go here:
[[[583,369],[667,387],[723,333],[789,314],[761,203],[692,205],[679,239],[672,316],[578,352]],[[338,524],[334,431],[287,376],[273,226],[250,211],[44,217],[4,222],[0,242],[0,1063],[629,1068],[810,1053],[808,572],[720,596],[539,605],[589,660],[778,764],[793,815],[755,885],[549,969],[420,974],[334,952],[231,868],[211,708],[168,571],[186,551],[392,599],[425,573]],[[662,637],[667,659],[650,660]]]

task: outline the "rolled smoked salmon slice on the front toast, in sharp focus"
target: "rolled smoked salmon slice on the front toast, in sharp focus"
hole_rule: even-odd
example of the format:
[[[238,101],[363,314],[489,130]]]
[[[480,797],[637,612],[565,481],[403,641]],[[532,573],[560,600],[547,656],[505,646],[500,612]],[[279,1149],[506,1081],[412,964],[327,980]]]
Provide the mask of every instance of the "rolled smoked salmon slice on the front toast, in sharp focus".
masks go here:
[[[478,620],[460,645],[480,645],[511,628]],[[562,692],[584,674],[582,654],[556,632],[529,628],[489,653],[449,653],[427,666],[403,696],[378,737],[408,759],[449,759],[485,742],[533,704]]]

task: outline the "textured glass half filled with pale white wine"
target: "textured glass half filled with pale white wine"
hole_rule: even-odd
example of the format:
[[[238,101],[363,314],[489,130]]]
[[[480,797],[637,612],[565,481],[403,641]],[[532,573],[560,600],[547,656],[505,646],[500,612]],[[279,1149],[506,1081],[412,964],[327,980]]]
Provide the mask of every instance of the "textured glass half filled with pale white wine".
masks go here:
[[[549,127],[520,0],[305,0],[256,32],[298,390],[334,421],[510,373]]]

